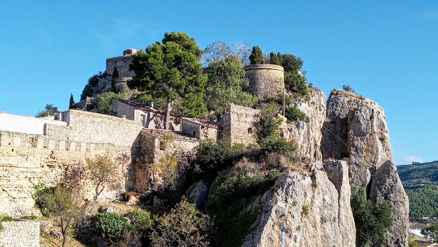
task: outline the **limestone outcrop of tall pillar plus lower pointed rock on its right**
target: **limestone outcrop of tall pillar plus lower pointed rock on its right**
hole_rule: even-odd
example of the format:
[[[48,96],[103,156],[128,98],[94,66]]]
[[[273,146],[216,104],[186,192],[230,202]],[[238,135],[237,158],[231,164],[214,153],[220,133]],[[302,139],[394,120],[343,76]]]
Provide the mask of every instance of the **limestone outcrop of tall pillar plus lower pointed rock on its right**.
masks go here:
[[[323,159],[349,159],[351,187],[367,188],[369,198],[391,209],[394,225],[386,233],[386,247],[407,247],[409,202],[397,168],[383,109],[362,96],[333,90],[321,129]]]

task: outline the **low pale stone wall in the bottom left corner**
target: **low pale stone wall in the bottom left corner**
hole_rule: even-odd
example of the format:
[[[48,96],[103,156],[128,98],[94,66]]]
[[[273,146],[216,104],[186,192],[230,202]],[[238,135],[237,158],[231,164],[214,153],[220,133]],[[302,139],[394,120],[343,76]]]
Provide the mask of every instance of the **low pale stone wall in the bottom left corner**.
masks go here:
[[[0,247],[39,247],[39,222],[1,222]]]

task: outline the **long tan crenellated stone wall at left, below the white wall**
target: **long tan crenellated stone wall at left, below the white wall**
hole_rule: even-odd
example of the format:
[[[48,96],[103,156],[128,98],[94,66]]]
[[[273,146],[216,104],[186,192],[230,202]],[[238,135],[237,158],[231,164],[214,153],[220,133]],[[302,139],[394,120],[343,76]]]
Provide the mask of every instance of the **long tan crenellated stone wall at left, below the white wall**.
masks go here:
[[[53,186],[63,181],[84,200],[91,199],[93,186],[84,165],[86,158],[96,154],[110,155],[119,170],[120,184],[104,190],[102,198],[118,198],[120,192],[132,190],[132,161],[140,151],[141,123],[76,110],[64,119],[66,126],[44,124],[43,134],[0,130],[0,214],[37,214],[32,194],[38,184]]]

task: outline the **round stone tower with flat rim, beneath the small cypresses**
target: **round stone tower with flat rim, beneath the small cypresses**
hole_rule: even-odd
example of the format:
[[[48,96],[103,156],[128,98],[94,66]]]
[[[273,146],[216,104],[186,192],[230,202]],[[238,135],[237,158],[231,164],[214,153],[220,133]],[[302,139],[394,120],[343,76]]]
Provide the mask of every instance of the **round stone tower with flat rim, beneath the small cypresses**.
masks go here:
[[[249,80],[248,92],[259,98],[283,92],[284,69],[274,64],[250,64],[243,68]]]

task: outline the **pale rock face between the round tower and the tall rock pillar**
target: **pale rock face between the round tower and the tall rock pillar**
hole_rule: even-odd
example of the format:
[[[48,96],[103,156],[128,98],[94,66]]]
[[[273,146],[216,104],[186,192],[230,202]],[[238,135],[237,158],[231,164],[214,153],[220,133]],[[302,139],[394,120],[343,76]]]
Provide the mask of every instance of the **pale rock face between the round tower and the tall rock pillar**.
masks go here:
[[[294,140],[298,145],[298,156],[309,158],[311,161],[322,162],[321,128],[326,118],[326,95],[313,89],[309,91],[310,100],[295,102],[295,106],[310,117],[310,122],[297,121],[281,129],[282,136]]]

